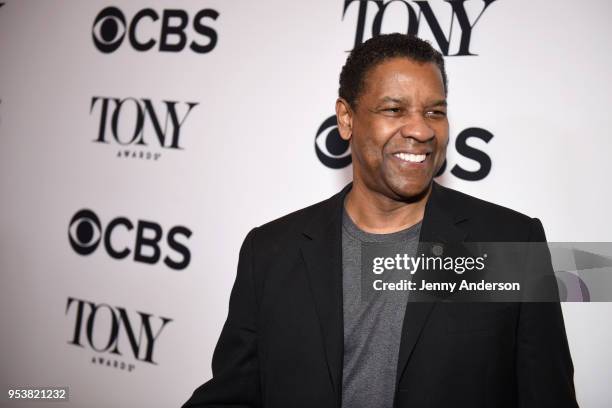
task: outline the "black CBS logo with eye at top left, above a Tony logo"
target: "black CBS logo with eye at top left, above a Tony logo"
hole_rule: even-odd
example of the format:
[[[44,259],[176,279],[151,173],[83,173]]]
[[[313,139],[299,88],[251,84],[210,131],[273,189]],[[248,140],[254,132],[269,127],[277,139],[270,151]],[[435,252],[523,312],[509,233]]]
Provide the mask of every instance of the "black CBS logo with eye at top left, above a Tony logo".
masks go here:
[[[216,20],[219,13],[213,9],[203,9],[193,18],[193,31],[201,38],[192,40],[189,48],[204,54],[212,51],[217,44],[217,32],[208,26],[207,19]],[[136,51],[148,51],[159,42],[159,51],[179,52],[187,46],[187,26],[189,14],[184,10],[166,9],[161,15],[159,34],[147,35],[156,28],[160,15],[153,9],[138,11],[131,21],[117,7],[107,7],[96,16],[92,28],[93,42],[98,50],[111,53],[123,43],[126,34],[128,42]],[[204,41],[202,42],[202,38]]]

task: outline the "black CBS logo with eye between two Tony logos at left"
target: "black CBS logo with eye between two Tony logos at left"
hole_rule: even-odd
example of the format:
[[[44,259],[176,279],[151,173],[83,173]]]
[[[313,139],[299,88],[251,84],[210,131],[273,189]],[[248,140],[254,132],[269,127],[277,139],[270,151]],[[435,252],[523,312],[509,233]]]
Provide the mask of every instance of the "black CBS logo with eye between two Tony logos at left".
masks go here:
[[[180,225],[168,231],[166,244],[173,254],[164,257],[166,266],[176,270],[189,266],[191,253],[185,241],[191,234],[188,228]],[[117,238],[119,235],[132,238],[133,244],[118,245],[117,241],[121,241],[121,237]],[[77,211],[68,226],[70,246],[79,255],[92,254],[103,242],[106,253],[112,258],[124,259],[133,253],[134,261],[147,264],[156,264],[161,259],[163,236],[164,231],[158,223],[139,220],[134,225],[125,217],[114,218],[103,228],[98,216],[89,209]]]

